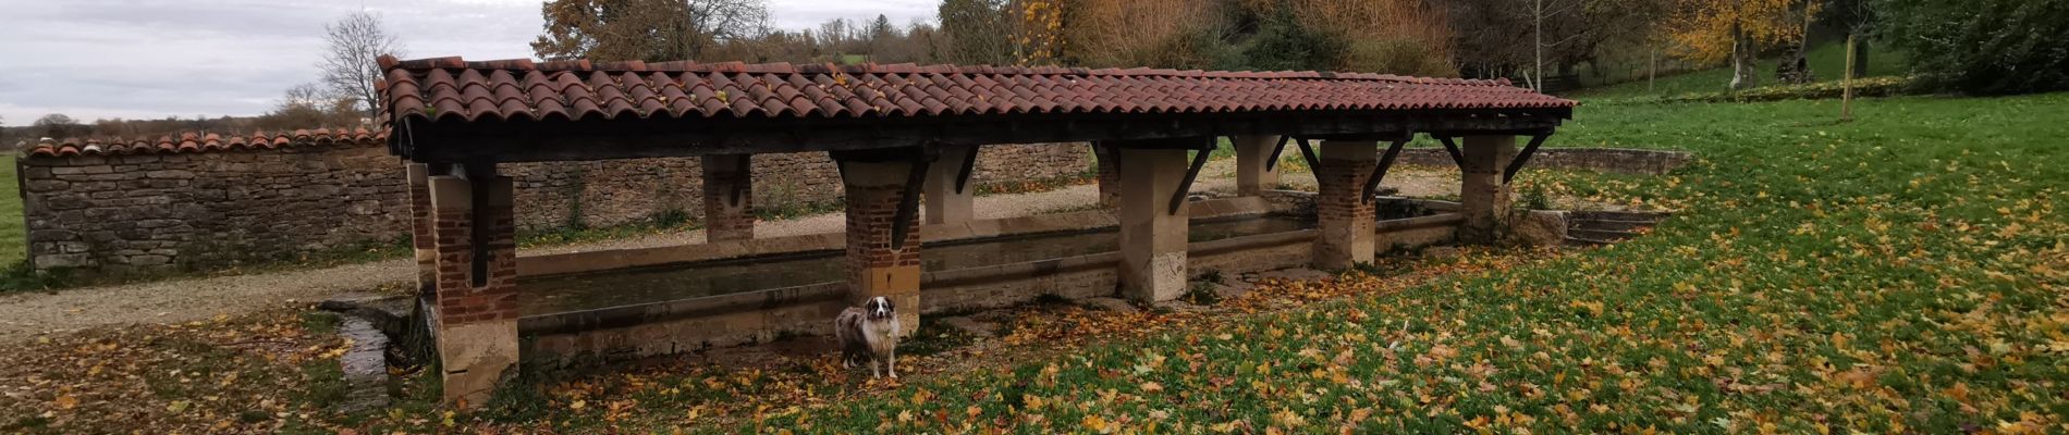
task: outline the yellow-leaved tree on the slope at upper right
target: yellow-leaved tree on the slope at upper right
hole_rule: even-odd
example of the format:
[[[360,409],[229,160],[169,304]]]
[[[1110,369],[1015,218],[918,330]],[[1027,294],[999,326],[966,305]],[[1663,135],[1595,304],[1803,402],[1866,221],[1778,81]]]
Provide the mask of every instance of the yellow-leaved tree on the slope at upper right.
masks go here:
[[[1817,12],[1810,0],[1676,0],[1663,27],[1674,39],[1674,56],[1697,62],[1732,62],[1732,89],[1757,85],[1752,64],[1761,47],[1800,41],[1804,16]]]

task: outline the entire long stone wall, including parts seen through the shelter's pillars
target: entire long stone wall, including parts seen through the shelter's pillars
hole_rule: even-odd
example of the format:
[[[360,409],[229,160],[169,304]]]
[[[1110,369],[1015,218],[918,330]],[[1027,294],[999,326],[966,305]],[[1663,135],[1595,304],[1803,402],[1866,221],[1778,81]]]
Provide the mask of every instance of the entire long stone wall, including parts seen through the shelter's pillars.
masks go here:
[[[997,144],[972,181],[1084,175],[1086,144]],[[288,146],[174,155],[21,157],[23,219],[37,270],[110,274],[211,270],[401,245],[401,161],[381,146]],[[521,231],[703,214],[699,159],[503,165]],[[755,204],[826,204],[840,175],[826,153],[757,155]]]

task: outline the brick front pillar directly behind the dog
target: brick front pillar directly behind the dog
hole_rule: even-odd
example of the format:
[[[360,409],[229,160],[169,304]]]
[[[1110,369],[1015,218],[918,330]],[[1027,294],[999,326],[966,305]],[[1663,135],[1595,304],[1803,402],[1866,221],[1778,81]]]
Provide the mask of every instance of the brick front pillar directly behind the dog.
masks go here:
[[[919,210],[908,214],[904,247],[892,243],[910,161],[844,161],[840,179],[848,202],[848,299],[890,297],[906,332],[919,330]]]

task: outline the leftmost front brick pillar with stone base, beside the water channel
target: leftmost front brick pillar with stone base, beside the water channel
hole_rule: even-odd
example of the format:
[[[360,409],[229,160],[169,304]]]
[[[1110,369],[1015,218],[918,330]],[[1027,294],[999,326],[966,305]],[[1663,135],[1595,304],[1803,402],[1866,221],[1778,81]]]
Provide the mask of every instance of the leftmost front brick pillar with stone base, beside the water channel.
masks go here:
[[[430,177],[439,361],[445,402],[488,402],[517,373],[517,243],[511,177]]]

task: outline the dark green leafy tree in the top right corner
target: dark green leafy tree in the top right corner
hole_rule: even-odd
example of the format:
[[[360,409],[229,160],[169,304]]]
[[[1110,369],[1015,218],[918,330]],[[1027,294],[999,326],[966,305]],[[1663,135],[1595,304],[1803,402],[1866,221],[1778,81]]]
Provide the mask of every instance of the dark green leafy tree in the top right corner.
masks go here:
[[[1881,0],[1879,35],[1924,85],[1978,93],[2069,89],[2069,2]]]

